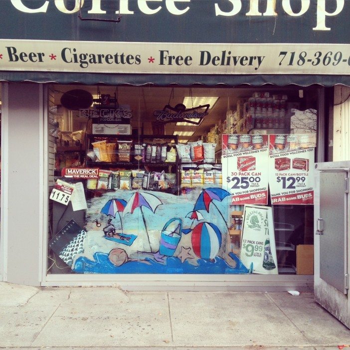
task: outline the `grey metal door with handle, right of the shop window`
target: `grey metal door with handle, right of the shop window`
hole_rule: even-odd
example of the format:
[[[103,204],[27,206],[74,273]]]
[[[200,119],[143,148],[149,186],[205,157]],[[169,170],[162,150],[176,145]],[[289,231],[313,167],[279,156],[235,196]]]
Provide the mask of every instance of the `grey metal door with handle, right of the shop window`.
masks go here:
[[[315,168],[315,299],[350,328],[350,162]]]

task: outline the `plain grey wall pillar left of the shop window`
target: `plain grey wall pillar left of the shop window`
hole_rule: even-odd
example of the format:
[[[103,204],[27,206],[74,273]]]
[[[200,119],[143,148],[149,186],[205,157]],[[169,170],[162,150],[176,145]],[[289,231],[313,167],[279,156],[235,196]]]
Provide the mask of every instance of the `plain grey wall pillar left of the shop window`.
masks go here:
[[[6,172],[3,188],[7,191],[1,217],[1,221],[6,220],[2,226],[4,260],[7,255],[3,277],[7,282],[38,286],[42,265],[42,85],[3,86],[4,90],[8,86],[2,102],[7,144],[1,146],[5,148],[4,160],[8,158],[8,164],[2,164]]]

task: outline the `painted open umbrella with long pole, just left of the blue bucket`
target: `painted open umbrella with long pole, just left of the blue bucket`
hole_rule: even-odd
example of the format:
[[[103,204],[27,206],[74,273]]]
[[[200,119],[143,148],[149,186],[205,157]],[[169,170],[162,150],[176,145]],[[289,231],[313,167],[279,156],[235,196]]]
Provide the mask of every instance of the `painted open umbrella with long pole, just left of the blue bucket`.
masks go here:
[[[150,209],[152,212],[155,212],[158,205],[163,204],[158,197],[156,197],[154,194],[146,193],[146,192],[139,192],[136,191],[131,198],[128,200],[127,205],[125,206],[123,210],[123,216],[127,213],[133,213],[136,208],[140,208],[142,219],[144,220],[146,233],[148,242],[150,244],[151,252],[152,252],[152,246],[150,242],[150,236],[148,234],[147,225],[144,217],[144,212],[142,211],[142,207],[146,207]]]

